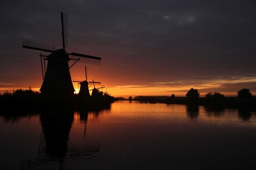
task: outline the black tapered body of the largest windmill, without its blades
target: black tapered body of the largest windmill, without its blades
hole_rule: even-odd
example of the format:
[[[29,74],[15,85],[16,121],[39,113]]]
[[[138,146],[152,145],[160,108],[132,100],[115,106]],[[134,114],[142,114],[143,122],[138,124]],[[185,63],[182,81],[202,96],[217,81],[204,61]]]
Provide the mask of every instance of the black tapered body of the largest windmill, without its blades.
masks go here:
[[[47,56],[48,64],[45,79],[41,86],[43,96],[72,96],[75,89],[72,84],[68,61],[70,58],[63,49]]]

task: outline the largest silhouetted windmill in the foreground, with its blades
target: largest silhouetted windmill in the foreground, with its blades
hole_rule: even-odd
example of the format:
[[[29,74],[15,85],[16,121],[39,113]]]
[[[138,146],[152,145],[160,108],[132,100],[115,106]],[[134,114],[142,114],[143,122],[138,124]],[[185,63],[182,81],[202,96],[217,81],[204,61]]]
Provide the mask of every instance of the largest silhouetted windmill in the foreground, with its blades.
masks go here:
[[[54,97],[70,97],[73,96],[75,91],[71,75],[70,68],[77,61],[88,64],[101,64],[101,58],[97,56],[79,54],[79,53],[67,53],[65,48],[67,47],[67,14],[61,12],[61,28],[62,28],[62,49],[55,49],[48,45],[34,43],[28,40],[22,42],[23,48],[40,50],[50,52],[50,55],[41,55],[41,66],[42,56],[45,56],[45,60],[48,61],[46,71],[43,71],[43,84],[41,86],[41,94],[43,96],[54,96]],[[75,60],[70,67],[68,61]],[[45,74],[44,74],[45,72]]]

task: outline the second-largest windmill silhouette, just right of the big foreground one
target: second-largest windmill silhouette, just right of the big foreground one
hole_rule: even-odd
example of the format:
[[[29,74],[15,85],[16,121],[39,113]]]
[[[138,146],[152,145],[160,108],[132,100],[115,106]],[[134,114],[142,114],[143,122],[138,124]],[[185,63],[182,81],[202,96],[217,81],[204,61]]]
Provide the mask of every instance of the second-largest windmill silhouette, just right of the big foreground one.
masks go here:
[[[100,82],[96,82],[96,81],[87,81],[87,70],[86,70],[86,66],[85,66],[85,80],[84,81],[73,81],[78,83],[78,85],[80,84],[80,90],[78,92],[78,96],[90,96],[90,92],[89,92],[89,83],[92,83],[94,88],[95,88],[95,83],[99,83]],[[92,85],[90,84],[90,85]]]

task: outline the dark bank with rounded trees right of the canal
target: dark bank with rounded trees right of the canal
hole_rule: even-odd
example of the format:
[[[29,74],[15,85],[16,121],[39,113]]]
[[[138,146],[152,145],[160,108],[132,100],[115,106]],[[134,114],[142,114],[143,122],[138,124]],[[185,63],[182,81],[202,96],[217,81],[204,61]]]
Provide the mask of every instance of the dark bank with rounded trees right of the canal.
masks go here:
[[[208,92],[204,97],[200,97],[197,89],[190,89],[186,97],[171,96],[136,96],[129,100],[149,102],[149,103],[165,103],[165,104],[184,104],[184,105],[202,105],[209,107],[225,107],[230,109],[256,109],[256,97],[252,96],[249,89],[238,91],[238,96],[225,97],[219,92]]]

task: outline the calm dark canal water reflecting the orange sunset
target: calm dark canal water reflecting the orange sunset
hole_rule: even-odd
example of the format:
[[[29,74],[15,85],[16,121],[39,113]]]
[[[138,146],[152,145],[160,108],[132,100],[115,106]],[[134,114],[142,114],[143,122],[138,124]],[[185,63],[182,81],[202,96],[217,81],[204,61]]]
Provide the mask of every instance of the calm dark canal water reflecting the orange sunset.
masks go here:
[[[0,169],[256,169],[256,112],[120,101],[0,116]]]

